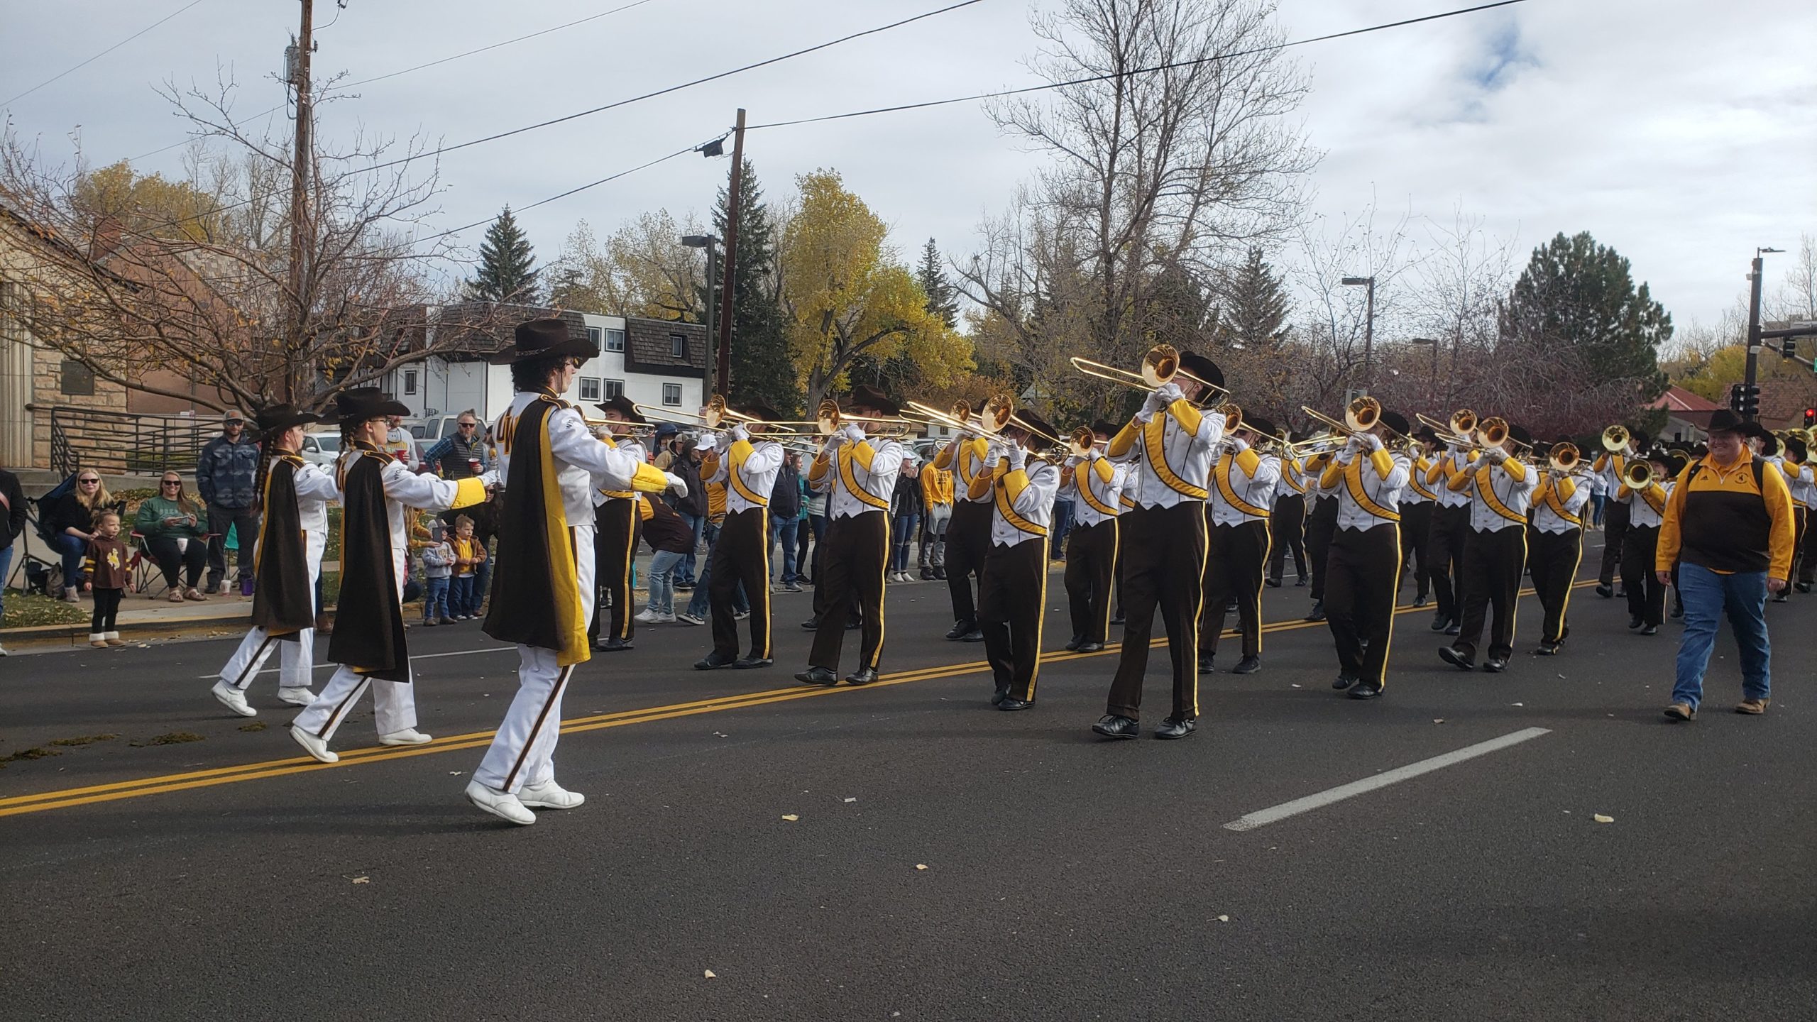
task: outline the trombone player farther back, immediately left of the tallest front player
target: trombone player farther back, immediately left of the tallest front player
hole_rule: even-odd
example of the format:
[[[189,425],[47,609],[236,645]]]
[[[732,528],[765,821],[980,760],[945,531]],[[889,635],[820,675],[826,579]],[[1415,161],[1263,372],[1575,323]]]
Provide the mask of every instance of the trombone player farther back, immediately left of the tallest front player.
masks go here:
[[[1090,426],[1092,446],[1074,449],[1059,471],[1059,487],[1077,495],[1072,531],[1067,533],[1067,609],[1072,638],[1067,649],[1097,653],[1110,636],[1110,580],[1117,571],[1117,515],[1128,466],[1112,464],[1105,446],[1117,431],[1097,420]],[[1077,433],[1076,440],[1083,438]]]

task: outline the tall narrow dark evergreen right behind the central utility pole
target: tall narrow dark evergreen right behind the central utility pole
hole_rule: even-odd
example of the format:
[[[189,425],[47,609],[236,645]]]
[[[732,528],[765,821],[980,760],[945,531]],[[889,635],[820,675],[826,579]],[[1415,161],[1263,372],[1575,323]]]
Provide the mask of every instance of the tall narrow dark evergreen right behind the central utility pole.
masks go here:
[[[798,415],[801,384],[789,360],[789,342],[783,338],[783,311],[776,302],[776,238],[770,231],[769,209],[763,204],[763,185],[745,160],[740,180],[738,209],[738,269],[732,275],[732,386],[727,400],[761,400],[783,415]],[[712,227],[725,236],[729,222],[727,189],[712,207]],[[712,280],[703,296],[716,302],[723,280]],[[718,311],[718,307],[716,307]]]

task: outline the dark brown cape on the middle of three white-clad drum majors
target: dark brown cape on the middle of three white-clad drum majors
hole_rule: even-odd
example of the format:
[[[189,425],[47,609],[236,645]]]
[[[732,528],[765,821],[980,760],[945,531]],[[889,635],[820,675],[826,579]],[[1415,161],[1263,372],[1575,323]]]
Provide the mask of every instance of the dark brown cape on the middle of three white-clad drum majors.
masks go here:
[[[409,682],[411,651],[385,516],[383,475],[392,458],[365,444],[358,449],[360,460],[342,480],[342,591],[329,660],[372,678]]]

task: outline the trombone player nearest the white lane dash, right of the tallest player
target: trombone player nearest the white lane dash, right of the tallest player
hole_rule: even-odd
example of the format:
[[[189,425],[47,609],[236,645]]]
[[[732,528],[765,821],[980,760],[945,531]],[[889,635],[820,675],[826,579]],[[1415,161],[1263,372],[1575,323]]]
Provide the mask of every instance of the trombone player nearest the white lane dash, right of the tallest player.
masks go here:
[[[1406,418],[1377,406],[1319,475],[1319,489],[1337,506],[1325,562],[1325,622],[1337,644],[1332,687],[1350,698],[1375,698],[1386,686],[1401,587],[1401,487],[1412,475],[1412,460],[1385,442],[1395,435],[1406,435]]]

